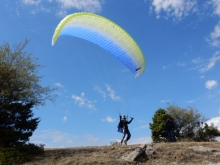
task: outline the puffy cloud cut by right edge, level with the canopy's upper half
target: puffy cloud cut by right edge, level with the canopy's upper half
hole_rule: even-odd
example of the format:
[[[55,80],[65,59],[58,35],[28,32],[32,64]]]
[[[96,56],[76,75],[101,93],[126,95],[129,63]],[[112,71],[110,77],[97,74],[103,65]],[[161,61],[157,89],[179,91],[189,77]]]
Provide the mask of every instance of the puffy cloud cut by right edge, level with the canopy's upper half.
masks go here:
[[[212,46],[220,45],[220,22],[215,26],[214,31],[210,33],[210,39],[208,42]]]

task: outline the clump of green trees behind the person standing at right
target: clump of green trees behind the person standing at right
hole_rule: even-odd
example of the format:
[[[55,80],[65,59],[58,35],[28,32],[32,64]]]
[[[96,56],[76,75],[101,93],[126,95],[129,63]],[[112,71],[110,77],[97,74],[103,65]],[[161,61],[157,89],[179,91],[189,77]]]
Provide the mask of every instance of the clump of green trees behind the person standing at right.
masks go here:
[[[189,139],[192,141],[215,141],[220,136],[220,131],[214,125],[204,123],[206,120],[196,108],[181,108],[175,104],[168,104],[166,110],[159,108],[150,123],[151,137],[153,142],[167,140],[164,130],[165,122],[170,117],[175,123],[175,135],[179,140]]]

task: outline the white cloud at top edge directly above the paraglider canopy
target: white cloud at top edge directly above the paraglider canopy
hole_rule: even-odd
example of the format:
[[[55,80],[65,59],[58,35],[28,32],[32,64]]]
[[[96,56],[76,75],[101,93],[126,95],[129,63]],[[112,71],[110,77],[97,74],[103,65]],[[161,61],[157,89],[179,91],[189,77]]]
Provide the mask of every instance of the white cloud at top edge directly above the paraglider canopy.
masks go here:
[[[102,10],[99,0],[56,0],[63,10],[78,9],[88,12],[100,12]]]

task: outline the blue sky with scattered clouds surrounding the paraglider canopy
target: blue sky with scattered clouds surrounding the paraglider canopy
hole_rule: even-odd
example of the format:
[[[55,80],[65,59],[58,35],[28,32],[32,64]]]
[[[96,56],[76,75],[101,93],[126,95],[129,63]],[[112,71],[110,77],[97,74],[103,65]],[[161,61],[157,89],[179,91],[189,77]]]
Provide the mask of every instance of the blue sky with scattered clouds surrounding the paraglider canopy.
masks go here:
[[[112,20],[135,39],[147,62],[143,75],[133,78],[88,41],[60,37],[51,46],[58,23],[83,11]],[[134,117],[129,144],[150,142],[149,122],[167,102],[194,106],[219,123],[219,18],[219,0],[2,0],[0,41],[31,40],[26,50],[46,66],[39,71],[42,85],[58,87],[54,104],[34,109],[41,122],[31,141],[108,145],[121,138],[120,112]]]

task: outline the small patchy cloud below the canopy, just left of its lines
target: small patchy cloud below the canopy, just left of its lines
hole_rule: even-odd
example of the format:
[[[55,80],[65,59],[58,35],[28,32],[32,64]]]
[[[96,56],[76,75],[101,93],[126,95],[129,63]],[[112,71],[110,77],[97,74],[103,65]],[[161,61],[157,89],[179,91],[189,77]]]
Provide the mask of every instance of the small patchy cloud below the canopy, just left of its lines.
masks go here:
[[[78,104],[80,107],[87,107],[91,110],[96,110],[93,101],[88,100],[85,98],[85,94],[82,92],[80,96],[72,95],[72,99],[74,100],[75,104]]]

